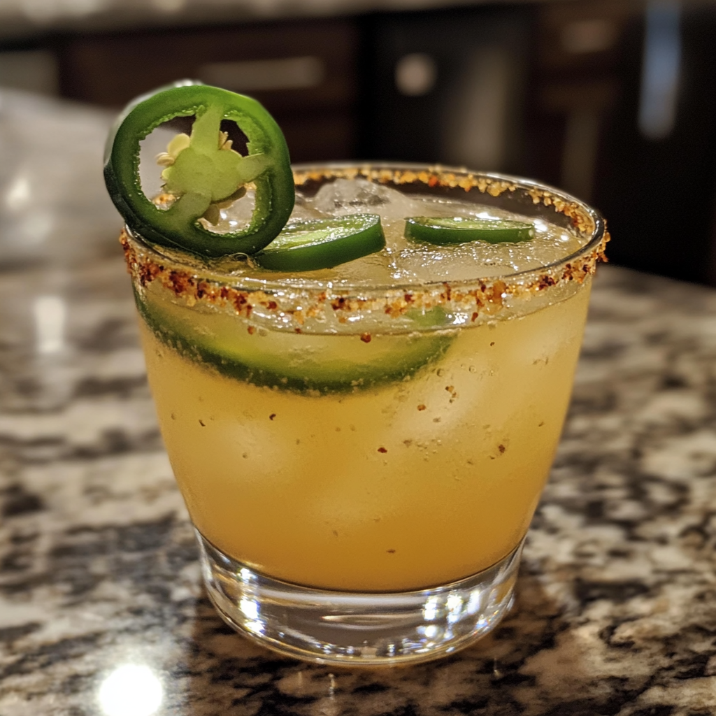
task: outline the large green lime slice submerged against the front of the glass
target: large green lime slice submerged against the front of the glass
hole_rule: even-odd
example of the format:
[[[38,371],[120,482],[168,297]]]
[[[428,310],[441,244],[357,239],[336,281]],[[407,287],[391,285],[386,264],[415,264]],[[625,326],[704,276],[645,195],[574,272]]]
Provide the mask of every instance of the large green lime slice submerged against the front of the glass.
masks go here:
[[[184,357],[236,379],[294,392],[325,395],[404,380],[442,357],[455,337],[442,309],[416,312],[412,333],[313,335],[250,331],[229,314],[188,309],[150,294],[136,299],[150,329]]]

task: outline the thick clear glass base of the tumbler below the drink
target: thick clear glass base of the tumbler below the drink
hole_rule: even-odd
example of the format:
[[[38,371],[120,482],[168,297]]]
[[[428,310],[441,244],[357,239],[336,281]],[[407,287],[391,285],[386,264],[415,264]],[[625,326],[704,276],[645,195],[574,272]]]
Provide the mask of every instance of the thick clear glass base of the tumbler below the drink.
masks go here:
[[[483,637],[512,606],[522,551],[445,586],[351,593],[272,579],[197,537],[206,589],[227,624],[281,654],[350,667],[425,662]]]

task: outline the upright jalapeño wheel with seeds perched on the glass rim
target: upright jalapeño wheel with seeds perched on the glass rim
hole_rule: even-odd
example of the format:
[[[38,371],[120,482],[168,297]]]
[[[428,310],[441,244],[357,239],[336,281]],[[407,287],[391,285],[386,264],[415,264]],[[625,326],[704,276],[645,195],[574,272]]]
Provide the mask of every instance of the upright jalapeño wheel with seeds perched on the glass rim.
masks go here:
[[[191,135],[177,135],[158,158],[170,195],[169,207],[160,208],[142,192],[140,141],[164,122],[190,116]],[[233,150],[222,120],[233,120],[248,137],[246,156]],[[105,181],[132,231],[200,256],[255,253],[278,236],[294,207],[289,150],[274,118],[251,97],[204,84],[180,84],[130,103],[107,143]],[[247,188],[255,190],[248,226],[211,231],[206,224],[217,223],[219,209]]]

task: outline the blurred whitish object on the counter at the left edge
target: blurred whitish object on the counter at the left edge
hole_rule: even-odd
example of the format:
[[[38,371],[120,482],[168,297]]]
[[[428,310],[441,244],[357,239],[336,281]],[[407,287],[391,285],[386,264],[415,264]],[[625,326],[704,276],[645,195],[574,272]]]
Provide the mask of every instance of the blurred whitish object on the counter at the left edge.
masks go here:
[[[0,268],[117,251],[122,219],[102,179],[111,122],[109,112],[0,89]]]

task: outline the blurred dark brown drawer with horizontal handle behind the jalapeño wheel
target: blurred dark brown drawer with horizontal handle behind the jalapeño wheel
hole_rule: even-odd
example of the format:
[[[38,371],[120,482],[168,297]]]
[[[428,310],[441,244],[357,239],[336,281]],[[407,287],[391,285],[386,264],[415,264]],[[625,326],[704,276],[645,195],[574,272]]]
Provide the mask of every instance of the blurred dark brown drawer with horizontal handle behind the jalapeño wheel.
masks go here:
[[[293,21],[57,40],[62,95],[105,107],[191,77],[256,97],[283,127],[294,161],[354,155],[355,24]]]

